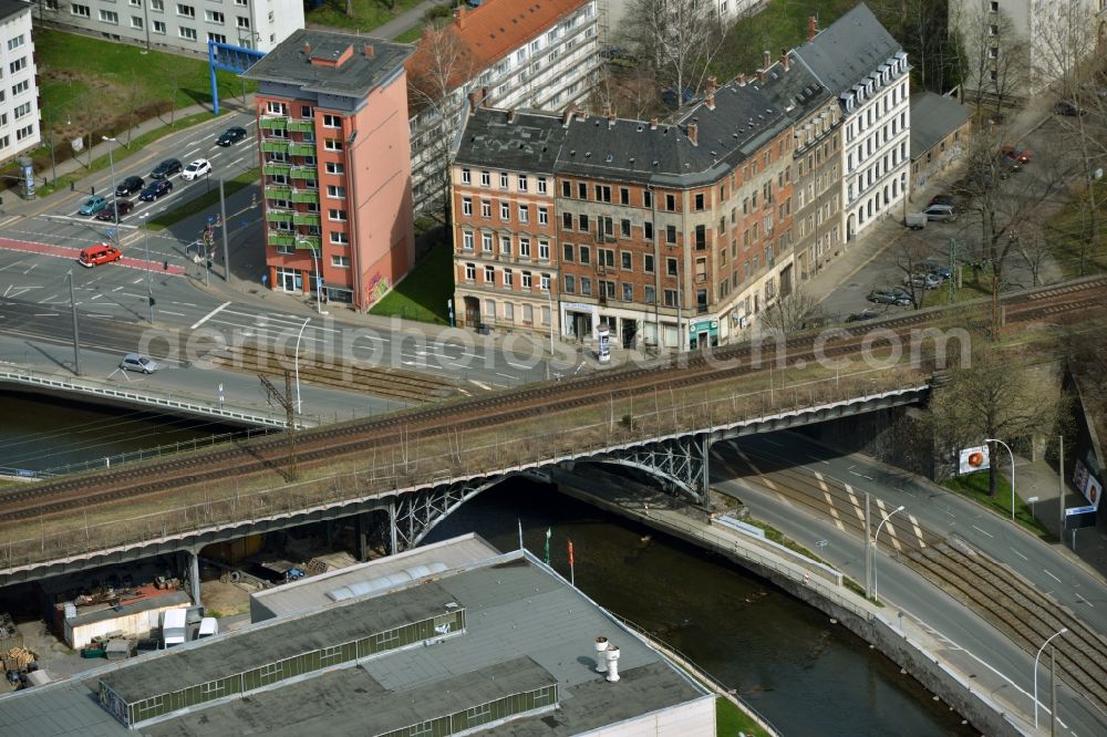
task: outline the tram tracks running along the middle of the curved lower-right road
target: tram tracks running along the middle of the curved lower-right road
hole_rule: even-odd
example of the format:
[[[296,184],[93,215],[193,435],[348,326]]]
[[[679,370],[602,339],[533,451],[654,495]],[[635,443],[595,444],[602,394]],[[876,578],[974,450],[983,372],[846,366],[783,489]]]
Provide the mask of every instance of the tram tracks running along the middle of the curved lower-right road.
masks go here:
[[[755,469],[776,458],[744,450]],[[846,485],[816,477],[796,468],[777,469],[761,484],[793,504],[863,537],[863,494]],[[890,511],[890,510],[889,510]],[[873,521],[887,512],[878,512]],[[923,527],[908,513],[886,522],[888,537],[879,544],[899,554],[923,578],[946,592],[982,620],[992,624],[1027,653],[1062,627],[1068,632],[1054,643],[1057,667],[1074,692],[1083,694],[1101,714],[1107,714],[1107,640],[1079,617],[1043,594],[1007,565],[983,553],[959,536],[942,536]]]

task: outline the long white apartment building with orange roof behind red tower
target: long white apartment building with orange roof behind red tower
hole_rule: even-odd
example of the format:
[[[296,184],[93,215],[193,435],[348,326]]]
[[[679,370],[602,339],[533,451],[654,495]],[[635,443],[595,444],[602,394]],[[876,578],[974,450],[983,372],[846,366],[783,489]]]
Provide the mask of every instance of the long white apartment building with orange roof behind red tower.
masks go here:
[[[448,158],[443,148],[456,147],[470,95],[494,107],[559,112],[588,97],[603,65],[597,0],[463,4],[447,32],[467,50],[472,73],[438,105],[408,96],[416,212],[439,203]],[[421,45],[408,60],[408,82],[417,86],[413,81],[428,63]]]

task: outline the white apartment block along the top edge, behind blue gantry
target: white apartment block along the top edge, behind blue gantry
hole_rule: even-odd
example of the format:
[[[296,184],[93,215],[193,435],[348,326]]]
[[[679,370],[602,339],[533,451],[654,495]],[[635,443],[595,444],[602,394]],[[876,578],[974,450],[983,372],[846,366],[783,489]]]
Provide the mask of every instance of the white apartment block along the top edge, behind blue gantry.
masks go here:
[[[303,0],[38,0],[34,12],[62,30],[205,55],[208,41],[268,53],[303,28]]]

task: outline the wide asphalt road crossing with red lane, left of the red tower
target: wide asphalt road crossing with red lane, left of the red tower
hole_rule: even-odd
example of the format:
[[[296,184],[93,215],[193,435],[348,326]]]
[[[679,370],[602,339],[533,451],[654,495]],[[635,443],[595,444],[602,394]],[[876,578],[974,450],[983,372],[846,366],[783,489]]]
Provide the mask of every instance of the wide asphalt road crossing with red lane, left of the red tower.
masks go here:
[[[175,157],[184,164],[204,157],[213,164],[213,176],[231,178],[257,163],[252,137],[229,148],[215,145],[218,134],[231,125],[254,134],[254,120],[237,113],[201,124],[152,144],[137,156],[123,159],[115,180],[138,175],[147,180],[149,170],[163,158]],[[204,270],[194,263],[201,248],[199,237],[210,212],[189,216],[161,231],[142,227],[143,216],[156,216],[193,195],[216,187],[215,180],[186,183],[173,177],[174,191],[151,204],[138,204],[123,216],[114,233],[124,251],[124,260],[94,269],[80,268],[75,258],[82,248],[111,240],[114,224],[76,215],[87,193],[63,193],[48,200],[37,216],[12,216],[0,220],[0,333],[31,336],[34,340],[60,340],[54,310],[70,303],[66,274],[73,273],[74,294],[82,313],[82,328],[89,321],[120,323],[131,330],[111,331],[113,340],[103,347],[128,352],[138,350],[143,331],[151,326],[188,328],[218,331],[228,342],[262,340],[292,346],[301,326],[311,318],[302,335],[302,354],[315,352],[374,365],[449,375],[474,388],[517,386],[547,377],[547,372],[569,374],[581,360],[571,352],[548,361],[534,341],[497,342],[472,331],[428,331],[402,321],[382,325],[319,314],[310,300],[270,294],[250,288],[260,277],[265,255],[260,243],[265,231],[261,210],[254,207],[257,187],[247,187],[227,198],[226,227],[235,277],[246,281],[244,292],[235,292],[221,280],[221,232],[216,232],[216,258],[203,286]],[[90,180],[96,193],[111,194],[111,174],[99,173]],[[146,255],[148,252],[148,259]],[[147,279],[149,283],[147,284]],[[149,323],[147,293],[153,294],[154,324]],[[43,308],[28,310],[28,305]],[[41,312],[41,314],[39,314]],[[18,321],[13,315],[18,314]],[[90,329],[103,335],[106,329]],[[13,332],[15,331],[15,332]],[[3,356],[0,356],[2,359]],[[164,356],[163,356],[164,357]],[[182,359],[184,360],[184,357]],[[549,364],[549,369],[547,367]]]

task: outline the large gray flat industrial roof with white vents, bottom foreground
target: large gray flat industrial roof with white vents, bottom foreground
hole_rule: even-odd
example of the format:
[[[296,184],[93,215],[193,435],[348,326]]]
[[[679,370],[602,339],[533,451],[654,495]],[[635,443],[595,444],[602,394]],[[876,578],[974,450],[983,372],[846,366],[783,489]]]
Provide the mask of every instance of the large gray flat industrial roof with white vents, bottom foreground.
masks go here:
[[[472,546],[473,539],[461,544]],[[448,547],[438,553],[448,557]],[[0,697],[0,733],[42,737],[124,735],[126,728],[96,703],[110,684],[130,697],[185,688],[211,674],[242,668],[333,643],[352,632],[410,621],[456,602],[465,630],[354,663],[262,686],[247,696],[208,702],[139,725],[157,736],[315,731],[381,734],[405,720],[473,708],[506,695],[557,684],[558,708],[509,719],[488,734],[570,735],[713,696],[529,553],[492,557],[433,582],[412,583],[281,616],[239,632],[107,666],[83,681],[65,681]],[[621,650],[621,679],[594,671],[594,639]],[[250,652],[256,651],[256,652]],[[13,716],[14,715],[14,716]],[[62,723],[64,715],[65,723]],[[7,719],[7,722],[6,722]],[[77,731],[73,724],[82,725]],[[99,729],[100,731],[95,731]],[[134,733],[131,733],[134,734]]]

